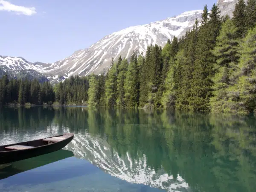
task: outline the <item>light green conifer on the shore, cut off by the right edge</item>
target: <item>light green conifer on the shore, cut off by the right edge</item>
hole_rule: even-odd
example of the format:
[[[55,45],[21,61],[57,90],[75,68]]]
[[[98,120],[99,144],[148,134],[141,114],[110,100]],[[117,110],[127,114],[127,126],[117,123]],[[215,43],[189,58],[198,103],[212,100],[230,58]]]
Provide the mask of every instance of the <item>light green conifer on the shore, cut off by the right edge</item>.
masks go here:
[[[227,89],[221,109],[224,112],[256,112],[256,27],[249,30],[241,44],[237,82]]]

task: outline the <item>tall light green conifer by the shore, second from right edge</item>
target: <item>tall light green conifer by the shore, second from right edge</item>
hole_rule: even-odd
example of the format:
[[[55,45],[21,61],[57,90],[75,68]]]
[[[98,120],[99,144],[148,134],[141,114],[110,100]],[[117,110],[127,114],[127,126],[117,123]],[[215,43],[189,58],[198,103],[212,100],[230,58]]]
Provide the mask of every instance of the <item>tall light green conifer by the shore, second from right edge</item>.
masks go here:
[[[238,71],[239,42],[236,39],[236,27],[230,19],[222,24],[220,36],[217,38],[216,47],[213,50],[217,58],[215,77],[213,78],[213,94],[210,99],[212,111],[223,111],[223,104],[227,98],[227,89],[236,83],[234,73]]]

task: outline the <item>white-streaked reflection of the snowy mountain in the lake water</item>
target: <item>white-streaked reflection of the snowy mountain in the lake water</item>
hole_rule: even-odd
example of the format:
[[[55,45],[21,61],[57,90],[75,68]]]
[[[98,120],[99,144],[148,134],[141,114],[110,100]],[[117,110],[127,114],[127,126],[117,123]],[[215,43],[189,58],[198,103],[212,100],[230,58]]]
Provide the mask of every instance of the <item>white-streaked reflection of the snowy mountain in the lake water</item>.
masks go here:
[[[130,155],[119,156],[117,151],[102,138],[92,137],[88,133],[76,134],[65,149],[73,151],[75,157],[85,159],[98,166],[104,172],[130,183],[144,184],[168,192],[189,192],[189,184],[177,175],[168,175],[164,169],[155,170],[148,165],[145,155],[137,160]]]

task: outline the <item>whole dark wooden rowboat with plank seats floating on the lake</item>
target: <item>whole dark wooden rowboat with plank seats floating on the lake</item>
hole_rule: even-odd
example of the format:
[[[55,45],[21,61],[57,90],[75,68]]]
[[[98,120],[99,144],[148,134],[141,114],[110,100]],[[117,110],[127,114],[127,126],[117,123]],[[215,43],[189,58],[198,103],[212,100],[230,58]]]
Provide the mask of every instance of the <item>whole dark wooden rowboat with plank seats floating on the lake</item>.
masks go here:
[[[74,134],[63,134],[11,145],[0,146],[0,164],[12,163],[51,153],[64,148],[74,138]]]

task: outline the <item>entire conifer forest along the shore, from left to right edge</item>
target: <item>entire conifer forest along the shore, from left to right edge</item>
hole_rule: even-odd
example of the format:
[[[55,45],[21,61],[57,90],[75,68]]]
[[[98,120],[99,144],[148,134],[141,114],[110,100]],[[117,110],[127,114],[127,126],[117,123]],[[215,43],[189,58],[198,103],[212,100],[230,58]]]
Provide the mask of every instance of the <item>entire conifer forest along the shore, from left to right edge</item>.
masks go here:
[[[204,6],[201,21],[162,48],[119,57],[106,75],[55,85],[0,80],[0,103],[256,112],[256,0],[239,0],[232,19]]]

